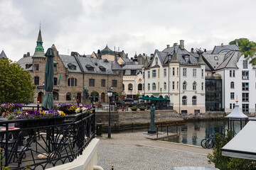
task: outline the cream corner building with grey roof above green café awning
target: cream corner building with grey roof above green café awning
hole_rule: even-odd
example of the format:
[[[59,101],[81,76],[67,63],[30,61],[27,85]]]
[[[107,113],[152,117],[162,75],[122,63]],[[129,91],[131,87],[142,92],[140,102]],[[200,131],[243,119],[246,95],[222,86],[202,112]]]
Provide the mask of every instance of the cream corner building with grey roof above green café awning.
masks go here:
[[[178,113],[204,113],[205,63],[201,54],[188,52],[184,41],[155,50],[143,67],[144,96],[169,98]]]

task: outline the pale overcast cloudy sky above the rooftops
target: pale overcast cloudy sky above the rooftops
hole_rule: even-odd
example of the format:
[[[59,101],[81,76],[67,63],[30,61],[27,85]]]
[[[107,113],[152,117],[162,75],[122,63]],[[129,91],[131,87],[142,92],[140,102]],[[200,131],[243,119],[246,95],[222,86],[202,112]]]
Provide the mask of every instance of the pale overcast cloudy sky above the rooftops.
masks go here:
[[[36,47],[41,23],[45,52],[90,55],[108,45],[150,55],[185,40],[212,50],[235,38],[256,41],[254,0],[0,0],[0,50],[18,61]]]

